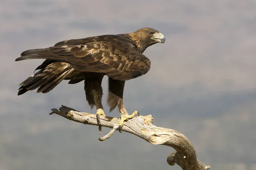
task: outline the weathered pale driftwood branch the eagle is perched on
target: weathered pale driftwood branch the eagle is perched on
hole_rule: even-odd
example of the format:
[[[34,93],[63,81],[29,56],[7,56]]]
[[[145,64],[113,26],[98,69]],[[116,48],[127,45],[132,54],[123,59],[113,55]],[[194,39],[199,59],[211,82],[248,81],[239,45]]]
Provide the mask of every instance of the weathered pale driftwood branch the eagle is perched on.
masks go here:
[[[95,114],[78,112],[75,109],[65,106],[61,106],[59,110],[52,109],[50,114],[53,113],[79,123],[99,126]],[[100,141],[104,141],[113,135],[113,133],[118,129],[119,120],[120,118],[100,117],[100,126],[112,128],[107,135],[99,138]],[[163,144],[173,147],[176,152],[171,153],[167,157],[167,163],[169,165],[175,165],[176,163],[183,170],[210,169],[210,166],[206,166],[196,158],[195,149],[186,136],[176,130],[156,127],[152,124],[153,121],[154,119],[151,115],[138,116],[126,121],[122,127],[122,131],[137,135],[151,144]],[[100,129],[101,128],[99,128],[99,130]]]

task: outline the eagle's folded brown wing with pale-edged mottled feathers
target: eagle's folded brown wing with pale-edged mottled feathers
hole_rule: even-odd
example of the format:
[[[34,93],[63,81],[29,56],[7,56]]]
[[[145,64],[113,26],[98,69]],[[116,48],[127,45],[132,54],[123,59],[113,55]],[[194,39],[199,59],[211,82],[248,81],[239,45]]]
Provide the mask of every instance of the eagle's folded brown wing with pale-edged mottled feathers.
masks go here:
[[[125,40],[78,39],[62,41],[47,49],[34,49],[34,52],[28,50],[16,61],[32,58],[64,61],[79,71],[105,73],[125,81],[144,75],[150,69],[150,60],[136,49],[134,43]]]

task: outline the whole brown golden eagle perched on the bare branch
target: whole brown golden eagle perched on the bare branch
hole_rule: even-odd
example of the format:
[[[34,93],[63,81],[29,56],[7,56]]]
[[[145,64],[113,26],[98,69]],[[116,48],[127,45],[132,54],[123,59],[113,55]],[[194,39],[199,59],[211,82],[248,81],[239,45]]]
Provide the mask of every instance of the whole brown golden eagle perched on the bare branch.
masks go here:
[[[108,76],[110,111],[116,108],[123,122],[137,115],[128,115],[123,103],[125,81],[144,75],[150,69],[150,60],[142,53],[148,46],[164,43],[165,37],[155,29],[142,28],[130,34],[100,35],[82,39],[64,40],[45,49],[30,49],[15,61],[46,59],[34,75],[20,84],[18,95],[28,90],[47,93],[62,80],[69,84],[84,81],[86,100],[91,109],[96,106],[97,121],[105,115],[102,107],[102,78]]]

